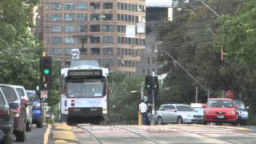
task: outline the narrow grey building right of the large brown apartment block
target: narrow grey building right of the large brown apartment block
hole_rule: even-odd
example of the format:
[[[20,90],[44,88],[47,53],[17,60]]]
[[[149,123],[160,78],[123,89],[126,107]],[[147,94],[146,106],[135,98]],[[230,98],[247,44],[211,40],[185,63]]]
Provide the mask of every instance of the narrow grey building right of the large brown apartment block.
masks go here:
[[[146,0],[146,49],[142,50],[142,61],[138,64],[138,73],[159,74],[161,67],[157,63],[158,45],[161,43],[156,40],[156,30],[154,26],[162,19],[172,20],[171,0]]]

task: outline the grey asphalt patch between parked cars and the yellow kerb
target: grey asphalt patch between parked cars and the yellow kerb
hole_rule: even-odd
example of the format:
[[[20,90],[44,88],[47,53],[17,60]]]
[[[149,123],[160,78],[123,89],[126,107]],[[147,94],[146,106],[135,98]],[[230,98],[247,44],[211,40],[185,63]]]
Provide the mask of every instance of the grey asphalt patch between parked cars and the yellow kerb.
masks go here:
[[[16,142],[15,136],[13,137],[14,144],[42,144],[43,137],[46,132],[47,125],[44,125],[43,128],[37,128],[33,125],[33,128],[30,132],[26,132],[26,142]]]

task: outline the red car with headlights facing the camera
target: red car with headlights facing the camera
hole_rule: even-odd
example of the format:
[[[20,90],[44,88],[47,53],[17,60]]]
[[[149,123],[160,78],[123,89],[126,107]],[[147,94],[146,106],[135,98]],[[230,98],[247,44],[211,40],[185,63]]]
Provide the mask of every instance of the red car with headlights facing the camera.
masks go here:
[[[217,122],[222,125],[222,122],[226,122],[235,125],[237,122],[236,107],[230,98],[210,98],[205,108],[204,123]]]

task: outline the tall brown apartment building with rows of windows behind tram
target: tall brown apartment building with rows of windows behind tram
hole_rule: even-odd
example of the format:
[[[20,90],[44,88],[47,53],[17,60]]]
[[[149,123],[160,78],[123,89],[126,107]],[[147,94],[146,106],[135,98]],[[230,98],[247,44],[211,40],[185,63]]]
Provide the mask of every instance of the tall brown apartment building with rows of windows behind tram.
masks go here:
[[[146,46],[145,0],[42,0],[40,15],[47,55],[70,62],[73,54],[136,73]]]

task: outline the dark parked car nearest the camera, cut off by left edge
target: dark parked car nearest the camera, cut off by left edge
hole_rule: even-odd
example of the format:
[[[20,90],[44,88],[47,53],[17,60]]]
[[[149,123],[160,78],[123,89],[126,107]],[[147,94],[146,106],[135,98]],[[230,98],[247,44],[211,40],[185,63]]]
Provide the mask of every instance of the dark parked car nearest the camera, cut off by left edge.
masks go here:
[[[1,141],[6,144],[13,142],[14,114],[12,110],[17,108],[18,103],[8,104],[0,88],[0,143]]]

